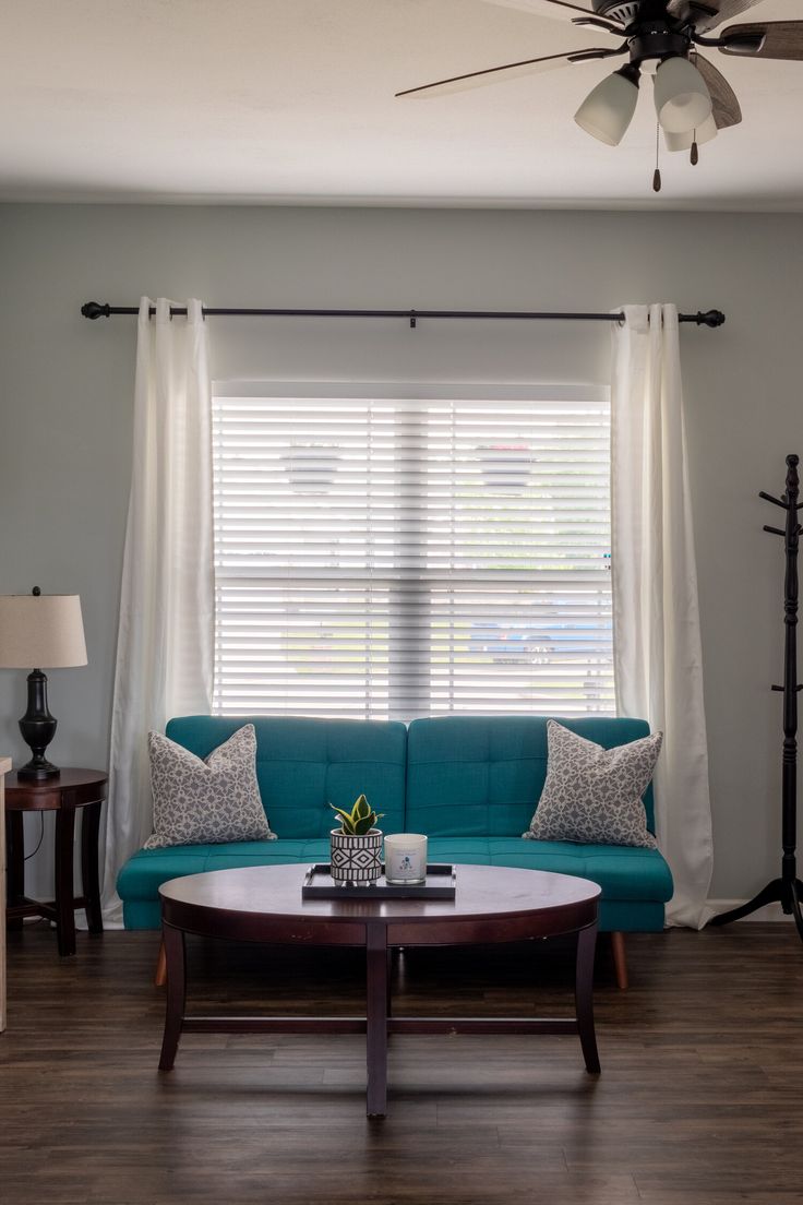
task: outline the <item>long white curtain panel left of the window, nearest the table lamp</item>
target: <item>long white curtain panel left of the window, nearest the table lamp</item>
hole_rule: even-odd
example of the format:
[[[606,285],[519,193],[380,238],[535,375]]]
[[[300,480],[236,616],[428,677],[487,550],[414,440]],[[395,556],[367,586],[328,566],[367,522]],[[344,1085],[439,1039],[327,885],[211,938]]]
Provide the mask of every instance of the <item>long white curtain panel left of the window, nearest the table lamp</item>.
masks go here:
[[[150,834],[147,734],[175,715],[212,710],[213,562],[211,383],[200,301],[171,318],[140,302],[134,464],[112,709],[104,916],[122,922],[114,889]],[[181,302],[183,305],[183,302]]]

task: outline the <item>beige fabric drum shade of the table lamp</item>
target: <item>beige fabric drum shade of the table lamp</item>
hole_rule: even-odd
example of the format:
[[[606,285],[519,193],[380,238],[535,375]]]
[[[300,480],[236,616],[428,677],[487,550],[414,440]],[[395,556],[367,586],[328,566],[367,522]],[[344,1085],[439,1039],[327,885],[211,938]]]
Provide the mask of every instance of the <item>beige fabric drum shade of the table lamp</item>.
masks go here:
[[[0,668],[39,670],[85,664],[77,594],[0,595]]]

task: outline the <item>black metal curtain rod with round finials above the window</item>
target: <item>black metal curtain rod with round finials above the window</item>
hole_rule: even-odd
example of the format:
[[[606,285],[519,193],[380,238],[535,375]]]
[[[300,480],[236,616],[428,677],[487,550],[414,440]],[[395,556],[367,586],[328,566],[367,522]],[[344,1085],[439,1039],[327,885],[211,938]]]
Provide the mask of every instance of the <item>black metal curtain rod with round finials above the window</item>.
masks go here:
[[[87,301],[81,306],[84,318],[112,318],[117,315],[137,315],[135,305],[101,305],[99,301]],[[150,306],[150,317],[155,313]],[[187,306],[172,306],[173,315],[185,315]],[[624,322],[624,313],[544,313],[531,310],[229,310],[203,307],[205,318],[407,318],[415,327],[417,318],[524,318],[527,321],[544,319],[560,322]],[[708,310],[705,313],[678,315],[679,322],[693,322],[697,327],[721,327],[725,315],[721,310]]]

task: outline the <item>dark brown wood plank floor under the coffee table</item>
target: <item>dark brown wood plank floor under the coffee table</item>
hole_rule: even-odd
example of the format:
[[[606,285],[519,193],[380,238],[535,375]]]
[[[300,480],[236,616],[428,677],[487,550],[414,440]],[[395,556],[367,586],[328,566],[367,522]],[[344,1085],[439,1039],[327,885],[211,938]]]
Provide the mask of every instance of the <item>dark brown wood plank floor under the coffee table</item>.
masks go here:
[[[574,1038],[391,1040],[365,1117],[360,1036],[188,1035],[157,1071],[158,935],[11,933],[4,1205],[803,1203],[803,948],[785,924],[602,939],[602,1076]],[[417,950],[398,1012],[571,1009],[568,947]],[[360,1012],[352,951],[190,948],[190,1003]]]

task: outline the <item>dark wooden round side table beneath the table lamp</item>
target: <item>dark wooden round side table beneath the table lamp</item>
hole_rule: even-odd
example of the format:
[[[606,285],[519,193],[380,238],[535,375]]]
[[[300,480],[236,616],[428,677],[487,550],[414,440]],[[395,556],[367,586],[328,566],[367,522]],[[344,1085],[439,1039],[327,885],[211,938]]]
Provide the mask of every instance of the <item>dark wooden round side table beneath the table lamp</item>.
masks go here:
[[[40,916],[55,921],[59,953],[76,952],[75,910],[87,912],[90,933],[104,931],[100,911],[100,875],[98,834],[100,810],[106,799],[108,776],[102,770],[61,770],[58,777],[42,781],[19,780],[16,772],[6,777],[6,836],[8,900],[6,922],[10,929],[22,928],[24,917]],[[76,812],[81,811],[81,877],[83,895],[76,897],[72,881],[72,851]],[[55,884],[54,900],[45,903],[25,895],[24,812],[55,812]]]

